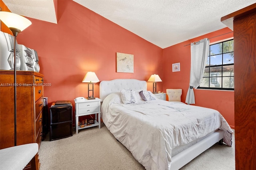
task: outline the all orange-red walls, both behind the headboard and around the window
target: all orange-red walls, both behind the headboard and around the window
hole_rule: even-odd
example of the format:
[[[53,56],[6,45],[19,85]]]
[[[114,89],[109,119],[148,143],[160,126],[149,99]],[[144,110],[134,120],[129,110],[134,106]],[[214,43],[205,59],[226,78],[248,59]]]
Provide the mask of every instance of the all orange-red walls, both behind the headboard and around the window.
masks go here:
[[[148,80],[158,74],[163,82],[157,91],[182,88],[182,101],[186,99],[190,76],[190,44],[203,38],[216,42],[232,37],[228,28],[194,38],[162,49],[136,36],[102,16],[72,0],[58,4],[58,24],[28,18],[32,25],[22,31],[17,41],[35,49],[39,55],[40,73],[44,82],[44,96],[48,102],[87,97],[87,83],[81,83],[88,71],[94,71],[99,80],[132,78]],[[3,11],[9,11],[2,0]],[[2,27],[3,32],[11,32]],[[217,38],[212,38],[218,36]],[[187,46],[184,46],[187,45]],[[134,73],[116,73],[116,52],[134,55]],[[180,62],[180,72],[172,72],[172,63]],[[152,83],[148,83],[152,91]],[[99,97],[99,83],[94,85],[94,96]],[[234,128],[234,92],[194,90],[196,105],[217,109]]]

